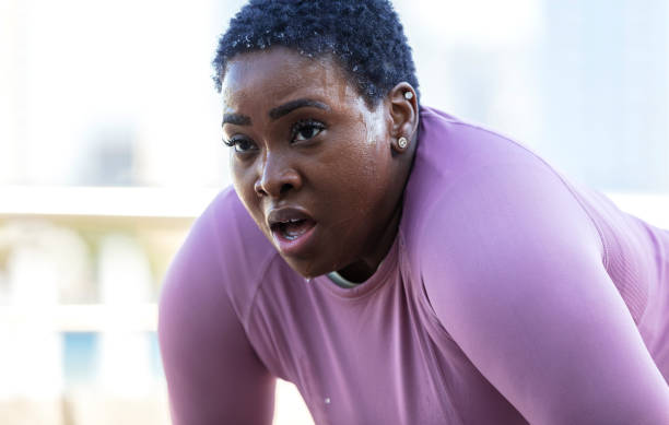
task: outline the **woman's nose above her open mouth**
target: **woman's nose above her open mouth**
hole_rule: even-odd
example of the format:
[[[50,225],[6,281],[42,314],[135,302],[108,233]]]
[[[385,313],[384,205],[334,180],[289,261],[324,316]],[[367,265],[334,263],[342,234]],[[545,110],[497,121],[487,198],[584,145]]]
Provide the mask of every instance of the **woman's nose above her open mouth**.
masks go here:
[[[260,165],[254,189],[259,197],[281,198],[291,190],[300,190],[302,177],[280,154],[266,154]]]

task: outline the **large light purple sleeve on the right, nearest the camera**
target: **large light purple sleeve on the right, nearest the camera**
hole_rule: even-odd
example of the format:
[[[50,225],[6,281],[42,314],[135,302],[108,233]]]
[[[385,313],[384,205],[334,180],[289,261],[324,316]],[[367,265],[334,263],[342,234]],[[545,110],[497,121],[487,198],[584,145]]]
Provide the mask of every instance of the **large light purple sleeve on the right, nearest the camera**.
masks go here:
[[[590,219],[540,165],[458,179],[421,237],[451,338],[531,424],[669,424],[669,389],[601,261]]]

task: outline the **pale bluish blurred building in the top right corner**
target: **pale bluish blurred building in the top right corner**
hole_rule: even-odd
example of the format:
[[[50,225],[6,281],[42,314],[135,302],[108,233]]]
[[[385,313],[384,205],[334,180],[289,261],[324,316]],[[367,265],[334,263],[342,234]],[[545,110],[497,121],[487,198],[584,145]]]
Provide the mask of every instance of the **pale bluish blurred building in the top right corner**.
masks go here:
[[[544,1],[543,152],[600,189],[669,190],[669,7]]]

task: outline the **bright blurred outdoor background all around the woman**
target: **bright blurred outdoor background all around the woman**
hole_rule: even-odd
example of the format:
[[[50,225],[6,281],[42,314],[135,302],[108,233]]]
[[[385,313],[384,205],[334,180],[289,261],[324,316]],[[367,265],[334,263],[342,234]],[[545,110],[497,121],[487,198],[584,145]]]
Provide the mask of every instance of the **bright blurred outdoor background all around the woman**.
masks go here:
[[[230,184],[210,62],[243,3],[0,0],[0,423],[168,423],[156,299]],[[423,104],[669,228],[667,0],[394,3]]]

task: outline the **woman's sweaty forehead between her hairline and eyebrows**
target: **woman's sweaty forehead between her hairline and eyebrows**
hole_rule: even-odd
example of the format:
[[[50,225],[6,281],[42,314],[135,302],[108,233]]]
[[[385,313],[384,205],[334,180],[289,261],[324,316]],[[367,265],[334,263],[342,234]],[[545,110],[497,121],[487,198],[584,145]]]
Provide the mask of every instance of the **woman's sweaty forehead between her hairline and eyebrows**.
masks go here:
[[[330,102],[359,97],[331,57],[308,58],[282,47],[233,58],[225,68],[221,94],[231,108],[258,107],[258,103],[270,107],[297,97]]]

